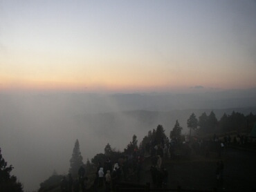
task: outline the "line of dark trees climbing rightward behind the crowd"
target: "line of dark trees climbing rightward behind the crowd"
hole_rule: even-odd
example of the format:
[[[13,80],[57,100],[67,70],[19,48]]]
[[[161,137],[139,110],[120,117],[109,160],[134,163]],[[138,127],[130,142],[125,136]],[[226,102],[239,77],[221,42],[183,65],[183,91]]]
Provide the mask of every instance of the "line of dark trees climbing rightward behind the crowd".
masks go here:
[[[188,117],[187,126],[190,129],[190,136],[193,133],[207,134],[207,133],[225,133],[227,131],[234,131],[244,128],[251,129],[256,122],[256,115],[250,113],[249,115],[243,115],[241,113],[232,112],[231,115],[223,114],[221,119],[218,121],[216,115],[213,111],[210,112],[209,115],[206,113],[202,113],[198,118],[194,113]],[[108,143],[104,148],[104,153],[96,154],[91,161],[89,159],[86,160],[86,163],[83,163],[83,157],[80,152],[80,144],[79,141],[75,141],[75,146],[73,148],[72,157],[70,160],[70,169],[68,173],[71,173],[73,177],[77,177],[78,169],[82,165],[86,170],[86,175],[89,175],[95,171],[95,167],[99,162],[104,162],[107,158],[111,160],[118,160],[121,155],[131,155],[134,152],[134,149],[139,148],[140,150],[145,148],[149,142],[161,143],[163,139],[167,139],[168,137],[171,140],[176,140],[176,142],[181,143],[185,141],[185,135],[181,133],[183,127],[179,124],[179,120],[177,119],[174,127],[168,134],[165,133],[165,129],[161,124],[153,128],[152,131],[149,131],[143,140],[138,145],[137,136],[133,135],[131,142],[127,144],[127,147],[124,148],[124,151],[121,152],[119,149],[112,148]],[[39,191],[48,191],[48,189],[53,189],[56,186],[56,182],[60,182],[59,175],[52,175],[48,178],[48,180],[42,182],[40,184]],[[52,186],[52,187],[49,187]]]

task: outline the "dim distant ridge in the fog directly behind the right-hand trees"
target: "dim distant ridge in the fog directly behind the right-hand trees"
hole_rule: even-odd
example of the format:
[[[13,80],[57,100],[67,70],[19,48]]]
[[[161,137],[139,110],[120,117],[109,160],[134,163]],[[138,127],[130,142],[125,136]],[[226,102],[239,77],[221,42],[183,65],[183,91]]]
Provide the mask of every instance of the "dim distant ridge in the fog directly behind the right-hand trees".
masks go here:
[[[136,131],[149,131],[156,128],[158,124],[162,124],[167,130],[171,130],[174,127],[176,120],[179,120],[181,126],[183,126],[183,133],[188,132],[187,120],[192,113],[198,118],[202,113],[207,115],[213,111],[219,120],[224,113],[230,115],[233,111],[242,113],[245,116],[249,113],[256,113],[256,106],[246,108],[224,108],[224,109],[183,109],[173,111],[122,111],[111,113],[97,113],[87,115],[77,115],[75,121],[82,124],[86,124],[90,129],[97,133],[107,134],[109,128],[112,131],[122,130],[123,128],[129,128],[134,133]],[[129,127],[129,124],[131,126]],[[108,128],[108,129],[105,129]],[[146,134],[147,132],[145,132]],[[169,133],[168,133],[169,134]],[[106,136],[106,135],[105,135]]]

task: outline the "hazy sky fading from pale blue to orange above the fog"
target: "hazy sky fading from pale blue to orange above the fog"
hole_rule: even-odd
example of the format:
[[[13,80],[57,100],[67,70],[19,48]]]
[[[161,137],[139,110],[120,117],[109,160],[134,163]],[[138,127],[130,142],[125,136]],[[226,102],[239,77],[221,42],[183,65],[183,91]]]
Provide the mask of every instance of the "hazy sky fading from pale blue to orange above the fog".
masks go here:
[[[0,90],[256,87],[256,1],[0,0]]]

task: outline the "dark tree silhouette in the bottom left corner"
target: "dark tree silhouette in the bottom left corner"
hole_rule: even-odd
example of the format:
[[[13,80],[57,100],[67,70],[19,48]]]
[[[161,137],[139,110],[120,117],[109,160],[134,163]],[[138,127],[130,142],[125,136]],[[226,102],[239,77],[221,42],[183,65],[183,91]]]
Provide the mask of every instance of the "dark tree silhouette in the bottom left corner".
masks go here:
[[[1,192],[22,192],[23,186],[20,182],[17,182],[15,175],[10,175],[14,167],[12,165],[7,166],[7,162],[3,159],[0,148],[0,191]]]

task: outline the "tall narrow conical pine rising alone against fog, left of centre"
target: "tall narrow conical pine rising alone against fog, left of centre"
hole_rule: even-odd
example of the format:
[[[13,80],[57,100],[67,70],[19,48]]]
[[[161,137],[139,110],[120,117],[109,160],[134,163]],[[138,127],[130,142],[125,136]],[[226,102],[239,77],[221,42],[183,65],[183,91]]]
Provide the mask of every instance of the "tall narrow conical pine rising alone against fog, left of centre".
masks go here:
[[[68,171],[69,173],[71,173],[71,175],[73,177],[77,177],[78,169],[80,168],[81,165],[83,165],[82,159],[83,158],[82,158],[82,155],[81,155],[81,152],[80,152],[79,141],[76,140],[75,141],[75,146],[73,148],[72,157],[71,157],[71,160],[69,161],[71,167]]]

